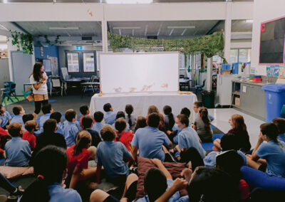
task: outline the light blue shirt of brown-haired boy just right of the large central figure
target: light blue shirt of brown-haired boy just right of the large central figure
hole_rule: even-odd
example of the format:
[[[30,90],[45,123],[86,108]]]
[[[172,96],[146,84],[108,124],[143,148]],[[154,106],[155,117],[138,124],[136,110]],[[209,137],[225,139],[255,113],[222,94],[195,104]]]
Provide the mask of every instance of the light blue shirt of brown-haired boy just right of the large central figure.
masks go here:
[[[178,134],[178,147],[180,149],[189,149],[190,147],[194,147],[197,149],[197,151],[199,151],[202,159],[204,159],[204,156],[206,155],[206,151],[204,151],[201,143],[199,142],[199,136],[195,129],[192,129],[192,127],[185,127]]]

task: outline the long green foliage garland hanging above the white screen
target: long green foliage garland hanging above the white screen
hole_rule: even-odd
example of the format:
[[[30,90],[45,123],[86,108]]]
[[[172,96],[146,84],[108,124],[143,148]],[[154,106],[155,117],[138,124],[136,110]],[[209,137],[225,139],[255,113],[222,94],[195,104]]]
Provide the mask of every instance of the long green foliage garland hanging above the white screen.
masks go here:
[[[108,39],[114,51],[120,51],[121,48],[147,51],[181,51],[186,55],[204,53],[208,58],[214,55],[219,55],[223,58],[224,35],[222,32],[199,38],[179,40],[135,38],[108,33]]]

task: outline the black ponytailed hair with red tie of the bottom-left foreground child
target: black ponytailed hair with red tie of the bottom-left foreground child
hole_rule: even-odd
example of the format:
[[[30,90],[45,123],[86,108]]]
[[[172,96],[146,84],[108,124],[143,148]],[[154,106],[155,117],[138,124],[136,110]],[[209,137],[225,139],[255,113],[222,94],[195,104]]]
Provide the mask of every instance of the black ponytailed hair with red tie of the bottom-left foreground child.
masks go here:
[[[21,202],[48,202],[51,198],[47,186],[61,184],[63,172],[66,170],[68,157],[60,147],[48,145],[36,154],[33,171],[38,178],[26,188]]]

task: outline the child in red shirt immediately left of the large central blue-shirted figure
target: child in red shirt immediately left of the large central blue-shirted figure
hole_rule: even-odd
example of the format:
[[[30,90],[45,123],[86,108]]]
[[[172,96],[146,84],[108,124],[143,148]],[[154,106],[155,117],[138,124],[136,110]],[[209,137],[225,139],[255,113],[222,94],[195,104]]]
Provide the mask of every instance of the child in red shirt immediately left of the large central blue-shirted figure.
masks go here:
[[[122,142],[128,151],[131,150],[130,142],[132,142],[134,134],[130,131],[125,132],[127,127],[127,123],[123,117],[120,117],[115,122],[115,128],[118,129],[117,137],[115,138],[115,142]]]

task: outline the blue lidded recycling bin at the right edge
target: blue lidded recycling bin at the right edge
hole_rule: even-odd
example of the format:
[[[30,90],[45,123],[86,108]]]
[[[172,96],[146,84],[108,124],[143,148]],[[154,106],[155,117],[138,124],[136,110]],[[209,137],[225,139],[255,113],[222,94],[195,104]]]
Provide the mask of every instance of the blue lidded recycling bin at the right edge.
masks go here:
[[[285,105],[285,85],[268,84],[262,87],[266,97],[266,122],[272,122],[280,117],[281,109]]]

